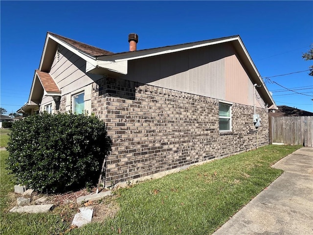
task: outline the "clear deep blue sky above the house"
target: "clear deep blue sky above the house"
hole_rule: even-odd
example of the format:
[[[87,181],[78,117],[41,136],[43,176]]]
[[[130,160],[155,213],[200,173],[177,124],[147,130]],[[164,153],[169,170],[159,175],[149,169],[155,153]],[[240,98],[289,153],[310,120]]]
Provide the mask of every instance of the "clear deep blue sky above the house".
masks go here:
[[[276,104],[313,112],[313,61],[302,59],[313,43],[313,1],[1,0],[0,107],[8,113],[28,100],[47,31],[112,52],[128,51],[131,32],[137,49],[240,35]]]

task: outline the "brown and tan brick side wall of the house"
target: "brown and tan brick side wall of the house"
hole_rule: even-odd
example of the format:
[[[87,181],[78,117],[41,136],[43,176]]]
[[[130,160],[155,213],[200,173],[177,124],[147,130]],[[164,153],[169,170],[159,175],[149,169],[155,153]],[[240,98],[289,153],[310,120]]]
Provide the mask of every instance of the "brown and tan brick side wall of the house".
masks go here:
[[[232,133],[220,135],[217,99],[107,77],[93,84],[91,102],[113,142],[107,182],[125,182],[257,145],[251,106],[234,103]],[[268,144],[268,112],[257,113],[261,146]]]

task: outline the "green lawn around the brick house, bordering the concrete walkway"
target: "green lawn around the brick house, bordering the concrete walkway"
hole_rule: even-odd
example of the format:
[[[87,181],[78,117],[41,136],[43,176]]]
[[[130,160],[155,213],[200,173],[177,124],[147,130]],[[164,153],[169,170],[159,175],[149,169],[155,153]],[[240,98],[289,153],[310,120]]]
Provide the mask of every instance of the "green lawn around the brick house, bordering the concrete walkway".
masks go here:
[[[120,211],[103,223],[64,233],[70,224],[53,211],[30,215],[8,213],[13,184],[1,151],[1,231],[6,234],[212,234],[234,213],[275,180],[271,168],[301,146],[268,145],[116,191]]]

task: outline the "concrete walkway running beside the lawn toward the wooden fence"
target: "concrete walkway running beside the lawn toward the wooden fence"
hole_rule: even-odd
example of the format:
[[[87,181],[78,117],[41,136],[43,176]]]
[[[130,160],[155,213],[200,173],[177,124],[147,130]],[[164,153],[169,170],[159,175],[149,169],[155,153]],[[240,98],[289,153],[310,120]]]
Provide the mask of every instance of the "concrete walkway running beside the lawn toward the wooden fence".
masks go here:
[[[313,148],[272,167],[285,172],[213,235],[313,235]]]

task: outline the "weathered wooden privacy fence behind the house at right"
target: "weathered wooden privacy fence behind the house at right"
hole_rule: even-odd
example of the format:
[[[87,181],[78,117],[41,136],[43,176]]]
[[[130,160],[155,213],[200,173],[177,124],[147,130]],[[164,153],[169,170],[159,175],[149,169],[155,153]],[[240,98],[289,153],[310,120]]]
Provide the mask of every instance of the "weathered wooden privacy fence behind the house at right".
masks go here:
[[[313,116],[268,119],[269,143],[313,146]]]

